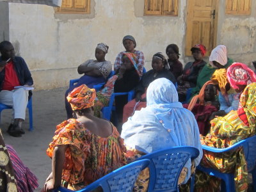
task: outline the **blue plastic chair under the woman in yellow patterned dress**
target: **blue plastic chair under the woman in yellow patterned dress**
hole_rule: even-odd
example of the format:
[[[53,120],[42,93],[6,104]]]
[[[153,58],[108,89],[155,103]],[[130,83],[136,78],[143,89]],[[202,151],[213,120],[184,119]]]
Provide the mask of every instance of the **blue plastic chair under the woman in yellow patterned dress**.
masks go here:
[[[253,179],[253,188],[256,191],[256,136],[252,136],[245,140],[239,141],[235,145],[232,145],[227,148],[214,148],[208,147],[206,145],[202,145],[204,150],[215,152],[215,153],[223,153],[230,152],[238,147],[243,147],[244,155],[246,157],[248,172],[252,173]],[[214,170],[212,168],[205,168],[202,165],[196,167],[198,170],[208,173],[214,177],[218,177],[221,179],[221,191],[232,192],[236,191],[234,174],[233,173],[221,173],[218,170]]]

